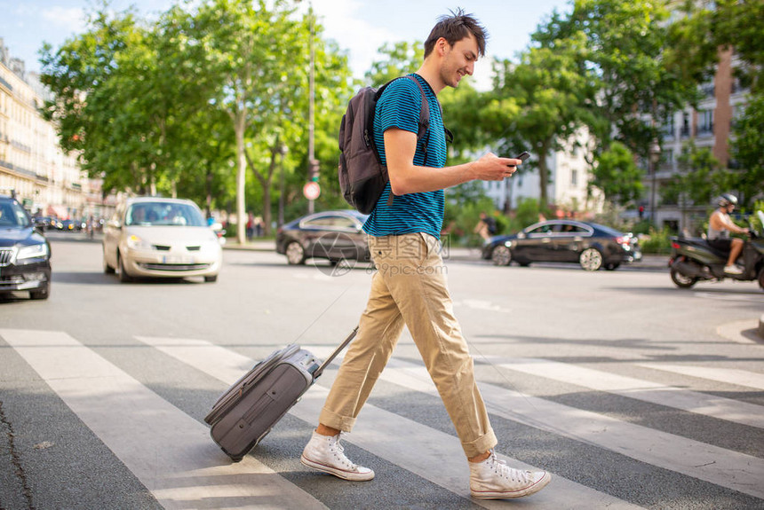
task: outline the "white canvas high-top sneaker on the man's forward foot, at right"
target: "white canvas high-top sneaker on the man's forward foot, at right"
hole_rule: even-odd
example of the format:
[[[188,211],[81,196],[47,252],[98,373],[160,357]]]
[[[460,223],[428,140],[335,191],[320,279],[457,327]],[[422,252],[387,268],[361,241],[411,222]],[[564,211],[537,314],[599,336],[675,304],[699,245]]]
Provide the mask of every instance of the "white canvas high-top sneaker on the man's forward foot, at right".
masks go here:
[[[473,498],[503,499],[530,496],[552,480],[546,471],[521,471],[508,467],[496,453],[482,462],[470,462],[470,494]]]

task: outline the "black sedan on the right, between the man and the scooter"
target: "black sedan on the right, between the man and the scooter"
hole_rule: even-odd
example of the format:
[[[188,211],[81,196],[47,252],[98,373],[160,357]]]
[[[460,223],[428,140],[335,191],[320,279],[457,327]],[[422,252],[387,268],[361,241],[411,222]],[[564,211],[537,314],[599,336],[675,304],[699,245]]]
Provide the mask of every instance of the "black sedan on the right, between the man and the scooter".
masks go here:
[[[579,263],[586,271],[597,271],[639,261],[642,253],[631,233],[588,222],[550,220],[513,235],[489,239],[482,257],[496,265],[567,262]]]

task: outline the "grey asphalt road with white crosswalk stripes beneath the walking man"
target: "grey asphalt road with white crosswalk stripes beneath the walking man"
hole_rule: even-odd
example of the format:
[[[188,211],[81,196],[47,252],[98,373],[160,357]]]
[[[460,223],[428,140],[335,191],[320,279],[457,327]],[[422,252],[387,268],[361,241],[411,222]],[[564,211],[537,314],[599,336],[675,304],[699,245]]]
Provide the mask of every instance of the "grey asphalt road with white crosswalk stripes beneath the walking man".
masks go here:
[[[243,462],[203,417],[255,360],[324,357],[370,269],[332,275],[227,250],[217,283],[120,284],[100,246],[52,234],[48,301],[0,298],[0,508],[764,508],[764,293],[672,286],[665,269],[447,263],[481,392],[513,466],[553,482],[469,498],[458,439],[408,333],[353,433],[369,483],[299,461],[337,365]]]

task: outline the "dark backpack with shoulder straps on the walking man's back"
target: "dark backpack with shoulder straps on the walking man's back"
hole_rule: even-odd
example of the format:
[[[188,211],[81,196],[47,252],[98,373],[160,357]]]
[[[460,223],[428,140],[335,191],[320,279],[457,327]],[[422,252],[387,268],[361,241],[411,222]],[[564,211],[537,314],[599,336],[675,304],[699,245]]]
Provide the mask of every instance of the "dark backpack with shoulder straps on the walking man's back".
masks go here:
[[[407,75],[399,79],[410,79],[417,83],[422,94],[422,110],[419,114],[417,139],[425,137],[430,128],[430,105],[421,83],[413,76]],[[377,147],[374,145],[374,113],[377,101],[382,97],[386,82],[378,90],[364,87],[350,99],[342,123],[339,125],[339,188],[348,204],[363,214],[370,214],[377,205],[377,200],[389,178],[387,167],[379,159]],[[446,137],[452,141],[450,131],[446,129]],[[425,144],[426,150],[427,144]],[[425,153],[425,166],[427,155]],[[393,203],[393,193],[387,204]]]

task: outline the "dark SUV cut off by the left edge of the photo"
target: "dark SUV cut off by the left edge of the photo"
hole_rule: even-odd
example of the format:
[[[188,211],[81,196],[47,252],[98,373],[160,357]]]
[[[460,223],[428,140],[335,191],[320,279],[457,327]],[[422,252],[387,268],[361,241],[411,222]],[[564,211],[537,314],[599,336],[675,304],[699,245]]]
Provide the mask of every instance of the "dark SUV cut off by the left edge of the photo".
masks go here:
[[[0,195],[0,293],[28,290],[32,299],[51,291],[51,245],[27,211]]]

